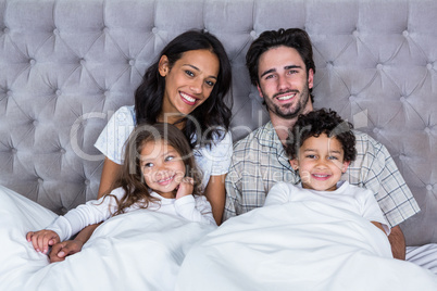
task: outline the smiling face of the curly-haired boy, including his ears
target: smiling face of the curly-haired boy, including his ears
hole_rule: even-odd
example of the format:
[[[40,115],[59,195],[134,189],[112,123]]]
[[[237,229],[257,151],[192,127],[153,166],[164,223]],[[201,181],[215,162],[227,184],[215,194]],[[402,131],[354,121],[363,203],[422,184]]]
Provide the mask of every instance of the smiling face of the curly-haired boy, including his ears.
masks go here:
[[[345,152],[338,139],[326,134],[308,138],[300,147],[298,159],[290,160],[299,169],[302,187],[319,191],[334,191],[349,162],[344,162]]]

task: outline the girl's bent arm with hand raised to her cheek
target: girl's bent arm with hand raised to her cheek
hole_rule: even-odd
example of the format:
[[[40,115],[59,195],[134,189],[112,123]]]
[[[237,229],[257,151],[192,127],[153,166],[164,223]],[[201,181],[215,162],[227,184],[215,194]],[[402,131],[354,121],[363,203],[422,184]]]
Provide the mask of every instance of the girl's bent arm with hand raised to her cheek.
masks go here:
[[[188,220],[207,223],[216,226],[212,215],[210,202],[205,197],[195,197],[192,193],[192,178],[185,177],[179,185],[176,193],[175,210],[176,213]]]

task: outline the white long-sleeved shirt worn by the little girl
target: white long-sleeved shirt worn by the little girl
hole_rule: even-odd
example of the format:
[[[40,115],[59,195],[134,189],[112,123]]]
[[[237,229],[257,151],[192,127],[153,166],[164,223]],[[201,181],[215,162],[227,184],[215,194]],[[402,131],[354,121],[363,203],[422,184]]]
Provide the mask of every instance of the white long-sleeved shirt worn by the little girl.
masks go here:
[[[111,192],[118,200],[123,198],[124,193],[122,188],[114,189]],[[158,198],[160,202],[150,202],[147,207],[149,211],[171,214],[190,222],[216,225],[212,216],[211,204],[203,195],[185,195],[179,199],[163,198],[155,192],[151,192],[151,195]],[[47,229],[57,232],[61,241],[64,241],[79,232],[84,227],[110,218],[116,211],[114,197],[102,197],[99,200],[90,200],[85,204],[78,205],[64,216],[59,216]],[[134,204],[126,208],[125,212],[138,208],[140,208],[139,205]]]

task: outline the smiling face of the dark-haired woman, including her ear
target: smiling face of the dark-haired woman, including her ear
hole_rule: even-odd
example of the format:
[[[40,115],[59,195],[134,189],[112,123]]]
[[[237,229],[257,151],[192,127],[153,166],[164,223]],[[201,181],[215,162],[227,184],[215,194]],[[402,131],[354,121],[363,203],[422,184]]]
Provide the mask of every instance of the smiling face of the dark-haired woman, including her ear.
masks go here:
[[[201,105],[217,81],[218,69],[218,58],[209,50],[186,51],[173,67],[166,55],[161,56],[159,72],[165,77],[165,91],[159,122],[173,124]]]

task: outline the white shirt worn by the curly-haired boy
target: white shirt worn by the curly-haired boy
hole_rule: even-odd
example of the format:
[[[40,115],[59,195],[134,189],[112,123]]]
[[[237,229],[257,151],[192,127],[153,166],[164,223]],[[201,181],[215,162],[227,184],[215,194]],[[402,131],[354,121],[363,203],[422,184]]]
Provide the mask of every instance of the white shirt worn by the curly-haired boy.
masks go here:
[[[350,185],[348,181],[339,181],[335,191],[317,191],[303,189],[301,184],[277,182],[270,190],[264,206],[305,200],[353,212],[370,222],[380,223],[387,236],[390,233],[390,227],[372,191]]]

